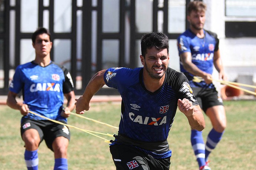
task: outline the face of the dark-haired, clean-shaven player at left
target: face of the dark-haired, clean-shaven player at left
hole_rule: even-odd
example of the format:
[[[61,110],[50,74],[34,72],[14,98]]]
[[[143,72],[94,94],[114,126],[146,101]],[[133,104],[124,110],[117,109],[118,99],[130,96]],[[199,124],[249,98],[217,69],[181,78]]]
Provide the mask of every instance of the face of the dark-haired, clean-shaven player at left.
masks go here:
[[[42,57],[48,55],[52,48],[52,42],[50,41],[49,35],[45,33],[37,35],[35,44],[33,43],[33,47],[35,48],[36,55]]]

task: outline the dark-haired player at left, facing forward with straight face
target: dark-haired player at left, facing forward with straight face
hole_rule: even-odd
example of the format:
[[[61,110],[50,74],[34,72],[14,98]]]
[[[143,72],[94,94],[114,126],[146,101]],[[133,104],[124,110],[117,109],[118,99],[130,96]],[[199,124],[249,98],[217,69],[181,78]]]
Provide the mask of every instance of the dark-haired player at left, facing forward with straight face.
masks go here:
[[[67,126],[45,120],[29,110],[47,118],[67,123],[70,111],[75,108],[73,82],[68,70],[50,59],[52,42],[50,33],[39,28],[32,35],[35,48],[34,61],[19,65],[9,87],[7,105],[20,110],[21,135],[25,143],[24,159],[28,170],[38,169],[37,150],[44,139],[54,152],[55,170],[67,170],[67,150],[70,132]],[[22,91],[23,103],[16,96]],[[63,107],[64,96],[68,100]]]

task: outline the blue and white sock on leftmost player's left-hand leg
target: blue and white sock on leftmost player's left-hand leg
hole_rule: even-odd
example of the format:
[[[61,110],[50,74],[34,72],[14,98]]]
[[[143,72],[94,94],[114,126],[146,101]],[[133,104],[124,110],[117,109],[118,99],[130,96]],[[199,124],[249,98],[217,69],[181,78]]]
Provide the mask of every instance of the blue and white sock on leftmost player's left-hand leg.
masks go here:
[[[28,170],[38,170],[38,154],[37,150],[25,150],[24,159]]]

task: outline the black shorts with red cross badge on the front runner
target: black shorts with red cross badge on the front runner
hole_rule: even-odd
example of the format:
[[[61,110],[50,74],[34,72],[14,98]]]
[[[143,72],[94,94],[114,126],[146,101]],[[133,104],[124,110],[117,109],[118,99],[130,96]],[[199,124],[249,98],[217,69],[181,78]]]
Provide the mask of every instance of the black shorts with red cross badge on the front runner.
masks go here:
[[[155,159],[130,145],[111,145],[109,147],[116,170],[169,170],[170,157]]]

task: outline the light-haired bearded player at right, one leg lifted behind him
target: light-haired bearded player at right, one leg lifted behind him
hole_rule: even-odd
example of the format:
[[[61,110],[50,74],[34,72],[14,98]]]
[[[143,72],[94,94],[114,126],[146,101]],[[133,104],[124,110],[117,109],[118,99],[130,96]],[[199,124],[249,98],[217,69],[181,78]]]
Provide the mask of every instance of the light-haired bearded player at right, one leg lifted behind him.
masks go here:
[[[220,58],[219,39],[215,33],[204,30],[206,4],[201,1],[191,1],[188,4],[187,20],[190,27],[178,37],[180,69],[194,91],[200,107],[210,118],[213,129],[208,134],[206,144],[202,132],[191,130],[191,145],[200,170],[209,170],[208,156],[216,147],[226,128],[226,113],[223,102],[212,83],[213,66],[219,72],[219,78],[226,80],[223,64]],[[194,76],[199,76],[201,82],[194,82]]]

